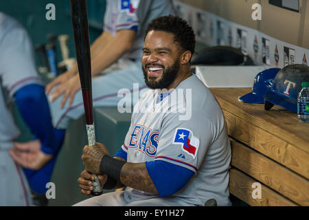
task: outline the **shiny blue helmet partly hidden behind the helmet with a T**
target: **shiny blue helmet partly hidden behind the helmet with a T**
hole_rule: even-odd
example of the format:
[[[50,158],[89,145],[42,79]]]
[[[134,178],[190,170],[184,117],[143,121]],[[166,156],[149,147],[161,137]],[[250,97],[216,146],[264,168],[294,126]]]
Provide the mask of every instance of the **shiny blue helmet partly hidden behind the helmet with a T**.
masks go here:
[[[239,97],[238,100],[251,104],[264,103],[264,94],[273,85],[273,80],[279,70],[279,68],[271,68],[258,73],[254,78],[252,91]]]

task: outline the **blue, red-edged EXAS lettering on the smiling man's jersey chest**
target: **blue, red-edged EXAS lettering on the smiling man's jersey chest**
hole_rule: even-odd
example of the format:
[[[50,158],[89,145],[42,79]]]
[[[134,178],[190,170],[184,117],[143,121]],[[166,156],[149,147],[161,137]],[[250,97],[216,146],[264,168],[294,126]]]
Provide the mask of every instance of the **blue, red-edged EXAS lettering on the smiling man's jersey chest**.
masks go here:
[[[137,148],[149,157],[155,157],[159,144],[159,133],[152,132],[146,126],[135,124],[128,147]]]

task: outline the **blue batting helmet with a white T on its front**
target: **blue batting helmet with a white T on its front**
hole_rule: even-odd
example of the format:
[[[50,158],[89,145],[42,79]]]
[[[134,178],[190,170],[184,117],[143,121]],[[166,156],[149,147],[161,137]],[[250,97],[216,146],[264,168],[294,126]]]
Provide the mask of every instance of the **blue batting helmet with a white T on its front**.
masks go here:
[[[273,85],[264,96],[264,108],[271,109],[277,104],[284,109],[297,113],[297,96],[301,91],[301,83],[309,81],[309,67],[305,65],[288,65],[281,69]]]

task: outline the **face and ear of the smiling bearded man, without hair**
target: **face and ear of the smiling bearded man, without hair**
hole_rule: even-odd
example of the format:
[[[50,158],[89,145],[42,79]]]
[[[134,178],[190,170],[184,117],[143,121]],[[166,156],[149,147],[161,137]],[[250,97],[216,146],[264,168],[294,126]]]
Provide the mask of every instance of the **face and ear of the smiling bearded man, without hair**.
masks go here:
[[[145,82],[150,89],[175,89],[177,84],[192,75],[188,61],[194,52],[194,42],[187,46],[188,50],[182,51],[184,49],[174,42],[172,33],[152,30],[146,38],[142,63]],[[183,56],[182,62],[180,55]]]

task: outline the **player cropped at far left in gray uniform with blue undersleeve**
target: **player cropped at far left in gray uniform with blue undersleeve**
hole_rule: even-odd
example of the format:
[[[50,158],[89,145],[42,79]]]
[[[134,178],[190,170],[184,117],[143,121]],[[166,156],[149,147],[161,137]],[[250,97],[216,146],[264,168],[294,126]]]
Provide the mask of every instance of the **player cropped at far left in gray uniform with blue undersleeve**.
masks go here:
[[[64,131],[52,126],[30,37],[21,24],[2,12],[0,51],[0,206],[30,206],[30,188],[38,194],[47,190]],[[35,136],[31,142],[16,142],[20,132],[10,109],[13,101]]]

